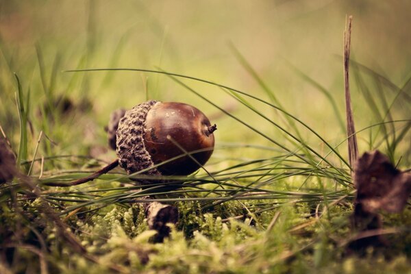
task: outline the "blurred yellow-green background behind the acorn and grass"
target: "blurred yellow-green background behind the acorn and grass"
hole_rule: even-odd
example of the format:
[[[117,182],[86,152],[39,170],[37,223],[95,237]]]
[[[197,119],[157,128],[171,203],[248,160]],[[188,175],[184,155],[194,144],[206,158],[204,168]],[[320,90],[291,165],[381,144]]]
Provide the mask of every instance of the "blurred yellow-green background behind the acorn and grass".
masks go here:
[[[62,72],[86,68],[160,68],[225,84],[269,101],[252,73],[242,66],[236,55],[238,50],[284,109],[336,145],[344,140],[345,132],[334,107],[318,87],[292,66],[332,95],[337,112],[344,119],[341,55],[347,14],[353,15],[351,58],[386,77],[391,84],[404,86],[411,77],[411,1],[408,0],[3,0],[0,1],[0,125],[17,147],[15,72],[25,95],[30,94],[32,146],[40,130],[58,144],[49,145],[49,151],[41,154],[105,153],[103,126],[110,113],[116,108],[132,108],[147,98],[197,106],[219,126],[216,138],[220,144],[264,144],[264,139],[255,132],[233,123],[167,76],[126,71]],[[351,79],[357,129],[380,122],[366,97],[361,95],[360,86]],[[384,108],[394,100],[398,90],[384,82],[378,86],[376,79],[380,78],[374,75],[364,79],[364,85],[372,96],[386,96],[385,106],[384,100],[376,99],[377,109],[384,117]],[[282,134],[272,125],[240,106],[221,88],[184,82],[240,119],[282,140]],[[409,98],[410,85],[406,88],[403,93],[408,97],[404,98]],[[56,102],[64,105],[61,98],[68,98],[68,104],[74,108],[70,112],[54,113],[53,121],[49,121],[47,108]],[[409,104],[401,105],[403,101],[401,98],[395,101],[390,119],[410,119]],[[290,128],[278,112],[250,102]],[[307,142],[322,149],[321,142],[310,132],[303,130],[302,134]],[[372,132],[359,135],[360,151],[377,147],[377,142],[370,141],[371,135]],[[380,145],[384,147],[384,143]],[[403,149],[409,151],[410,145]],[[345,149],[341,150],[346,153]],[[112,158],[114,154],[109,152],[109,155]]]

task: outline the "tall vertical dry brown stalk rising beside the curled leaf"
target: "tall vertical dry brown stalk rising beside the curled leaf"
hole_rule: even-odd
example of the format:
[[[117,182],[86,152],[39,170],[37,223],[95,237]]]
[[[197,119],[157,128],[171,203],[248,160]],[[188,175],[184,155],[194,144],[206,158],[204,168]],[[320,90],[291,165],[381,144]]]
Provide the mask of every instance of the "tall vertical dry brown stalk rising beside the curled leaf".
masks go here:
[[[344,31],[344,87],[345,87],[345,114],[347,117],[348,155],[353,175],[353,164],[358,158],[356,128],[354,127],[353,110],[351,109],[351,95],[349,92],[349,53],[351,45],[351,23],[353,16],[349,16]]]

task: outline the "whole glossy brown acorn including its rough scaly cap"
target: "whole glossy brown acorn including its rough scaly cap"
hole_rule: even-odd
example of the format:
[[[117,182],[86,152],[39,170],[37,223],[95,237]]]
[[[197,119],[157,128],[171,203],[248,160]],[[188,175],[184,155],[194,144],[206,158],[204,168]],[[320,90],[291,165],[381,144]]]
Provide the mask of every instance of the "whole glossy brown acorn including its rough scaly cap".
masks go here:
[[[116,130],[119,164],[130,174],[181,156],[145,174],[188,175],[210,158],[215,130],[216,125],[211,125],[206,115],[192,105],[160,101],[140,103],[126,111],[119,121]],[[190,155],[184,155],[186,153]]]

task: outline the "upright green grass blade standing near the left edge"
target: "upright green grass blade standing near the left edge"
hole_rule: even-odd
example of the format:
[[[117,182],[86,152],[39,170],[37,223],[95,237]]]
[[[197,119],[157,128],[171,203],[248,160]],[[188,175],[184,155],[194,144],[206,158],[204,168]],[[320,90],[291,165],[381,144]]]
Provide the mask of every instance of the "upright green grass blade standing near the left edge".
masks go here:
[[[20,144],[18,148],[18,155],[17,155],[17,164],[18,166],[21,165],[23,160],[27,159],[27,113],[25,112],[24,108],[24,97],[23,97],[23,90],[21,88],[20,79],[16,73],[14,73],[17,82],[17,95],[16,95],[16,103],[18,108],[18,119],[20,120]]]

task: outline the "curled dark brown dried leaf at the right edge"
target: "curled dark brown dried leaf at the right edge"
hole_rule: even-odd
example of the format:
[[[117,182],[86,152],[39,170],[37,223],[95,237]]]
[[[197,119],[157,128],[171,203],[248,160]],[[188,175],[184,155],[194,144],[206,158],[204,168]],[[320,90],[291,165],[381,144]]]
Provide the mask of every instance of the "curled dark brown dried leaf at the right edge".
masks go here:
[[[398,213],[406,206],[411,194],[411,174],[396,169],[383,153],[364,153],[356,163],[354,176],[356,203],[362,205],[362,210]]]

